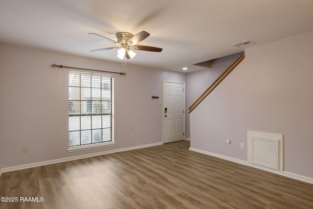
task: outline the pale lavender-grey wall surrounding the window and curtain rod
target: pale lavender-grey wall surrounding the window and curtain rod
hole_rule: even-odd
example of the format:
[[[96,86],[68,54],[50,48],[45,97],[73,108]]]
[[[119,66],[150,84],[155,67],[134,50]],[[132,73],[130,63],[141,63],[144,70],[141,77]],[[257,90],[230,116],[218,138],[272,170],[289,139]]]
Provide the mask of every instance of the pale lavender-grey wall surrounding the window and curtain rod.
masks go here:
[[[187,77],[6,44],[0,45],[0,63],[0,168],[161,142],[162,106],[157,102],[162,101],[162,80],[186,82]],[[114,74],[115,146],[67,152],[68,69],[50,67],[54,63],[127,73]]]

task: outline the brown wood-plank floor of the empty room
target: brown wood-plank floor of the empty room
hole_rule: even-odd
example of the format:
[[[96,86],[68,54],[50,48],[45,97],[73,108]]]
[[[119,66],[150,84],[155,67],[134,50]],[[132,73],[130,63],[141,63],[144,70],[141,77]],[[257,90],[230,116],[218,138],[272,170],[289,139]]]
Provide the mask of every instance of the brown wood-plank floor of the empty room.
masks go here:
[[[313,209],[312,184],[189,146],[179,141],[2,173],[0,197],[18,202],[0,202],[0,209]]]

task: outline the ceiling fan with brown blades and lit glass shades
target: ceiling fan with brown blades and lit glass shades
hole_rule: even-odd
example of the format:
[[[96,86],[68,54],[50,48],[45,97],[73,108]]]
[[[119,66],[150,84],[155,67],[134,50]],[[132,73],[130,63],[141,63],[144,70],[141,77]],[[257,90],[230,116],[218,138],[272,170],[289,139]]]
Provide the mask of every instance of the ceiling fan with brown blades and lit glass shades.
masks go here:
[[[96,37],[99,37],[99,38],[102,38],[106,41],[109,41],[111,43],[118,45],[115,47],[99,48],[99,49],[94,49],[91,51],[102,51],[102,50],[119,48],[119,50],[117,51],[117,57],[120,58],[121,60],[124,59],[124,57],[126,57],[127,59],[132,59],[136,55],[136,53],[134,51],[132,51],[132,49],[142,50],[142,51],[155,51],[155,52],[161,52],[162,51],[162,48],[157,48],[157,47],[153,47],[153,46],[136,45],[139,42],[141,42],[142,40],[146,39],[148,36],[150,36],[150,33],[146,32],[144,30],[135,34],[135,35],[133,35],[132,33],[128,33],[128,32],[118,32],[115,34],[117,41],[106,38],[104,36],[100,36],[100,35],[95,34],[95,33],[89,33],[89,34],[96,36]]]

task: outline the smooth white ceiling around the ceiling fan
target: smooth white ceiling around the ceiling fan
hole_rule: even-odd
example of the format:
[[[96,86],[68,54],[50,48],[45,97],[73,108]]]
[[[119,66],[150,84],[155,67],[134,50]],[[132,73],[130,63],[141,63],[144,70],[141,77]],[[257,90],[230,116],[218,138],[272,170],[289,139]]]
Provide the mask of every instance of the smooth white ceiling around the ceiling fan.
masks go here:
[[[0,0],[0,43],[40,47],[117,62],[117,49],[90,52],[114,44],[115,33],[151,35],[127,63],[192,72],[193,64],[256,45],[313,31],[313,0]],[[256,46],[254,45],[254,46]],[[248,47],[248,46],[246,46]],[[63,65],[66,65],[64,63]]]

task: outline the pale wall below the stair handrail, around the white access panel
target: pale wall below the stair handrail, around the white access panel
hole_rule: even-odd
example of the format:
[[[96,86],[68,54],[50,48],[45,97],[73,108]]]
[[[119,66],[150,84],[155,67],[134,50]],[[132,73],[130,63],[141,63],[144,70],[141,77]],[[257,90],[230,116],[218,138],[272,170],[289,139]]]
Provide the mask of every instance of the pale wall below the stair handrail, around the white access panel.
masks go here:
[[[191,147],[246,161],[247,130],[283,134],[284,171],[313,178],[313,32],[245,55],[190,114]]]

